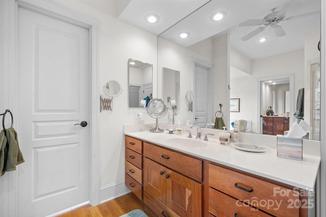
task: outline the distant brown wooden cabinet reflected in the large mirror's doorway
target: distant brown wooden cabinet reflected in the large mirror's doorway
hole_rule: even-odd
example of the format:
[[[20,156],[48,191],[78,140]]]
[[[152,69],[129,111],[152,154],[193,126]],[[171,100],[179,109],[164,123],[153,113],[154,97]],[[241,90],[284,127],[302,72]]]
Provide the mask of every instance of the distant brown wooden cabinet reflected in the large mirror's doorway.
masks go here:
[[[289,118],[277,116],[264,116],[263,134],[267,135],[283,135],[284,131],[289,130]]]

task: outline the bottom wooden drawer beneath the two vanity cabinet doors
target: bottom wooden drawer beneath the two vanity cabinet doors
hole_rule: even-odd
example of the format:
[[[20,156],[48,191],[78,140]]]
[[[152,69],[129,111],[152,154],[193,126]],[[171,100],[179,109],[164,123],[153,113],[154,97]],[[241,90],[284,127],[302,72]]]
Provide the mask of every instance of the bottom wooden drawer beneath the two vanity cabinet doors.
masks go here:
[[[144,203],[157,215],[157,216],[170,216],[180,217],[177,213],[172,211],[164,203],[158,200],[150,192],[144,189]]]

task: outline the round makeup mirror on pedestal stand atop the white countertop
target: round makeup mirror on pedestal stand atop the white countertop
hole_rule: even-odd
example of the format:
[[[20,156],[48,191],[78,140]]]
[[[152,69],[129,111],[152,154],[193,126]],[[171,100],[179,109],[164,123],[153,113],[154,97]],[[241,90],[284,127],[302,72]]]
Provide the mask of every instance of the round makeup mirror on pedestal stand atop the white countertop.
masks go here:
[[[151,129],[149,132],[152,133],[164,132],[164,130],[158,128],[158,118],[163,117],[168,111],[168,108],[164,103],[164,101],[159,98],[151,99],[147,105],[146,110],[149,116],[156,118],[156,126],[154,129]]]

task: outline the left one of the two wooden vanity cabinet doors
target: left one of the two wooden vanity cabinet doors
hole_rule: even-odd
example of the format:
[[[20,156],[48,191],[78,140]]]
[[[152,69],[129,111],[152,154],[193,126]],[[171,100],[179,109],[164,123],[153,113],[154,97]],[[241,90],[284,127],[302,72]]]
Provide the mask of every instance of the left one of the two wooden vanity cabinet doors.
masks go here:
[[[166,168],[148,158],[144,158],[144,188],[166,203]]]

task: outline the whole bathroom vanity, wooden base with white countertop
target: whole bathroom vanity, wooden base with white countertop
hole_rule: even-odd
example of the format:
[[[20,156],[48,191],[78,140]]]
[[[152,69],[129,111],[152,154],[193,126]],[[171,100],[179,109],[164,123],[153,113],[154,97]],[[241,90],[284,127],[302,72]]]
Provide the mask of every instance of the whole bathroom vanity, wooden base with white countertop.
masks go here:
[[[315,215],[320,158],[310,154],[280,159],[273,148],[252,153],[149,132],[125,133],[125,146],[125,184],[158,216]]]

